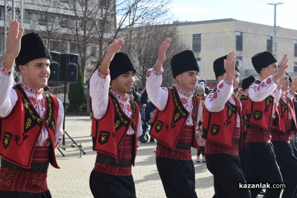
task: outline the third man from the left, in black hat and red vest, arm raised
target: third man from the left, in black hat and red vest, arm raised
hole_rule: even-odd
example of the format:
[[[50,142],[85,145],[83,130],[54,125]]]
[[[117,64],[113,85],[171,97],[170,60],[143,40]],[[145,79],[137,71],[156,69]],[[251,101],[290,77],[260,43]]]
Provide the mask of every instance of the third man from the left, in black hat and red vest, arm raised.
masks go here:
[[[151,123],[150,136],[157,141],[156,165],[167,198],[197,198],[195,168],[191,147],[198,148],[196,127],[202,113],[197,96],[198,63],[193,51],[184,50],[171,58],[171,69],[177,84],[162,84],[162,63],[170,39],[159,47],[158,58],[148,70],[148,98],[157,107]]]

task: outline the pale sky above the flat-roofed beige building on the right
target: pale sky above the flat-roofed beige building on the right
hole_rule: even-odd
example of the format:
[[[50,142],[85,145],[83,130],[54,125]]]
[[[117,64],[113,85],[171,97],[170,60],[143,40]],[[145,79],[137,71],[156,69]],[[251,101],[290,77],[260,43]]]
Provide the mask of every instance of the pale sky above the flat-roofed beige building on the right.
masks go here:
[[[252,23],[274,25],[274,5],[276,6],[276,26],[297,30],[297,0],[172,0],[173,20],[204,21],[234,18]]]

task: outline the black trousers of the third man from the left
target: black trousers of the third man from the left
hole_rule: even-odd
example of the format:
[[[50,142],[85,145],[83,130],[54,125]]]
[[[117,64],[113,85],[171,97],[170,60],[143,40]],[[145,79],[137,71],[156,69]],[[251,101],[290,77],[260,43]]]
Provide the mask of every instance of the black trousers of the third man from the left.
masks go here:
[[[167,198],[197,198],[193,160],[156,157],[156,165]]]

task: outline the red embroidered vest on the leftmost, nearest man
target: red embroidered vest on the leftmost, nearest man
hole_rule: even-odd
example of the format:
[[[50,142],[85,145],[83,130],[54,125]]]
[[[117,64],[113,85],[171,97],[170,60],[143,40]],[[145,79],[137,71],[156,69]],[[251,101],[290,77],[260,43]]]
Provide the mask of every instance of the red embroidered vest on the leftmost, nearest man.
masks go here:
[[[59,168],[54,155],[57,99],[44,92],[46,112],[41,118],[21,86],[16,85],[14,89],[18,97],[14,109],[7,117],[0,118],[0,156],[20,167],[30,168],[38,137],[46,127],[51,141],[49,162]]]

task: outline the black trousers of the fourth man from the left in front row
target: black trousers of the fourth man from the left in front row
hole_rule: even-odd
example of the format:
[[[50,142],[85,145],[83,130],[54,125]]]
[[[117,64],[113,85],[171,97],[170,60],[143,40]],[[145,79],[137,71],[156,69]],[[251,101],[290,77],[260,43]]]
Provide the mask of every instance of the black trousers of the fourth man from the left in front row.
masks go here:
[[[239,188],[239,183],[247,183],[239,156],[206,153],[205,158],[207,169],[213,175],[213,198],[250,198],[248,189]]]

